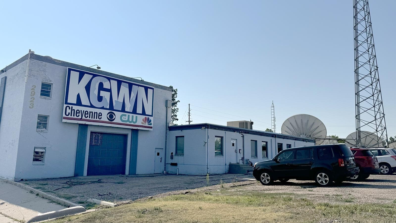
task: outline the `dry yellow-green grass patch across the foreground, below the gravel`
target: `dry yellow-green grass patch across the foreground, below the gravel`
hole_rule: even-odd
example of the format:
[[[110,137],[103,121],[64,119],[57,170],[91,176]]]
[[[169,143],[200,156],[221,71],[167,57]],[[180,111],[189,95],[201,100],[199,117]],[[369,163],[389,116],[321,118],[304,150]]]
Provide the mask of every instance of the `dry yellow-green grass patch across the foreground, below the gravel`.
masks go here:
[[[115,208],[99,209],[84,215],[69,216],[67,221],[71,223],[313,223],[324,222],[323,219],[339,219],[341,222],[377,223],[378,219],[383,222],[395,222],[395,215],[394,204],[314,203],[307,198],[299,198],[297,194],[251,192],[238,187],[232,191],[179,194],[134,202]],[[49,222],[61,223],[65,222],[65,219]]]

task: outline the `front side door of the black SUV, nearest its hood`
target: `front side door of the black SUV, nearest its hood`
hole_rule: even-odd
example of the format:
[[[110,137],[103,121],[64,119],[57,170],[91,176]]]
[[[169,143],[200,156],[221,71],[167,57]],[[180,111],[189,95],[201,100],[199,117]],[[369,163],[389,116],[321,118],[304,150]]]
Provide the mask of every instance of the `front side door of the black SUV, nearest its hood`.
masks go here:
[[[279,153],[277,160],[271,166],[278,178],[293,176],[293,159],[294,150],[286,150]]]

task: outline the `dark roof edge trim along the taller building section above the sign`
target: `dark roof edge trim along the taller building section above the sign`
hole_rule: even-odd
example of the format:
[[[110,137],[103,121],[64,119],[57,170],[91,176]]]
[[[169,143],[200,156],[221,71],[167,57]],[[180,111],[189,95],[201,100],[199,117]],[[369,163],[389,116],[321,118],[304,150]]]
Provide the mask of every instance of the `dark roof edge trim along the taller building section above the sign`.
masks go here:
[[[29,56],[29,54],[26,54],[25,56],[19,58],[17,61],[11,63],[10,65],[8,65],[6,67],[4,67],[2,70],[4,70],[6,72],[7,70],[11,69],[12,67],[15,67],[16,65],[18,65],[19,63],[27,60],[28,56]],[[132,82],[135,82],[135,83],[141,83],[141,84],[148,85],[148,86],[155,87],[155,88],[160,88],[162,90],[172,91],[172,88],[166,87],[166,86],[163,86],[163,85],[157,85],[157,84],[154,84],[154,83],[150,83],[150,82],[147,82],[147,81],[141,81],[139,79],[126,77],[126,76],[119,75],[119,74],[116,74],[116,73],[110,73],[110,72],[107,72],[107,71],[102,71],[102,70],[99,70],[99,69],[86,67],[86,66],[83,66],[83,65],[78,65],[78,64],[75,64],[75,63],[69,63],[69,62],[65,62],[65,61],[62,61],[62,60],[53,59],[53,58],[51,58],[49,56],[41,56],[41,55],[38,55],[38,54],[34,54],[34,52],[30,53],[30,59],[38,60],[38,61],[42,61],[42,62],[46,62],[46,63],[52,63],[52,64],[64,66],[64,67],[71,67],[71,68],[74,68],[74,69],[80,69],[80,70],[84,70],[84,71],[89,71],[89,72],[92,72],[92,73],[103,74],[103,75],[107,75],[107,76],[110,76],[110,77],[115,77],[115,78],[122,79],[122,80],[132,81]]]

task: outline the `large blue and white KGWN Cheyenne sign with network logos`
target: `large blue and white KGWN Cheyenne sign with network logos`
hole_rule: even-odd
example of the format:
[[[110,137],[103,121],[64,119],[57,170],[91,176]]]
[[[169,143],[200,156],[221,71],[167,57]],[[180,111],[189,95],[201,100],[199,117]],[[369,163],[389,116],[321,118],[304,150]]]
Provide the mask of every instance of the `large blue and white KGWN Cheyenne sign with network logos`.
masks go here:
[[[63,122],[152,130],[154,88],[67,68]]]

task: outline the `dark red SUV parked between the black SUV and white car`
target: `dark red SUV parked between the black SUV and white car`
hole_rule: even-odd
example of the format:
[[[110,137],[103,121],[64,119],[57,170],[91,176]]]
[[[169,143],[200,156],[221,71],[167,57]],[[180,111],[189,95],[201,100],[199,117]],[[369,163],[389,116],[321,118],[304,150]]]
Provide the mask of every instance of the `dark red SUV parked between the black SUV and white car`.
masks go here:
[[[377,158],[369,149],[364,148],[350,148],[352,154],[355,156],[356,166],[359,167],[358,175],[350,177],[352,180],[367,179],[370,174],[377,174],[381,172]]]

